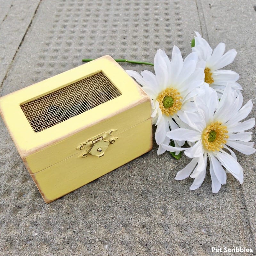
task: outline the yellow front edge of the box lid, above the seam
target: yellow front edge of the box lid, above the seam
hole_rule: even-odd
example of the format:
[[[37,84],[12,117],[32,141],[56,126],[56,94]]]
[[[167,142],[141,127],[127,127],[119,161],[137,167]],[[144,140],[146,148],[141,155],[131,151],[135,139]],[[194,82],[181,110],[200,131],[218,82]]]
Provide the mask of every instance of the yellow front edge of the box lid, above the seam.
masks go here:
[[[147,120],[151,113],[150,101],[143,102],[133,108],[130,108],[116,116],[100,122],[86,130],[78,132],[73,136],[68,137],[54,145],[49,146],[41,151],[31,154],[23,159],[29,172],[39,172],[53,164],[56,164],[64,159],[75,155],[80,150],[77,149],[79,144],[86,142],[92,137],[107,132],[111,129],[116,129],[114,136],[127,130],[129,127],[135,126]],[[83,120],[80,120],[83,122]],[[76,125],[74,123],[74,125]]]

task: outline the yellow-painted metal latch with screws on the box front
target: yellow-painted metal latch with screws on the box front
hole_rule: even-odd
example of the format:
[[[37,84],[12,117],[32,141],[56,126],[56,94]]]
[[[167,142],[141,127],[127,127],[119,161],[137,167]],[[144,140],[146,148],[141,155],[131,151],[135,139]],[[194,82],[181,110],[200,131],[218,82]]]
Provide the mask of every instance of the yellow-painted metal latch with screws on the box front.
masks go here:
[[[90,140],[80,144],[76,149],[83,150],[83,153],[79,155],[79,158],[85,158],[88,154],[92,156],[104,156],[105,151],[108,149],[109,144],[115,143],[117,138],[113,138],[112,135],[116,132],[116,129],[111,129],[108,132],[103,132]]]

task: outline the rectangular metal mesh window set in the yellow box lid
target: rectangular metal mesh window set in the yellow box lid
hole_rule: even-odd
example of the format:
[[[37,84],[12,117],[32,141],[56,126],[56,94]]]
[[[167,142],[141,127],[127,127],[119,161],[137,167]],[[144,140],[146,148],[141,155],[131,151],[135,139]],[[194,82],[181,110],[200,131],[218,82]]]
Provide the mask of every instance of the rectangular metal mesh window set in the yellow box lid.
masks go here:
[[[41,132],[120,95],[100,72],[20,107],[33,130]]]

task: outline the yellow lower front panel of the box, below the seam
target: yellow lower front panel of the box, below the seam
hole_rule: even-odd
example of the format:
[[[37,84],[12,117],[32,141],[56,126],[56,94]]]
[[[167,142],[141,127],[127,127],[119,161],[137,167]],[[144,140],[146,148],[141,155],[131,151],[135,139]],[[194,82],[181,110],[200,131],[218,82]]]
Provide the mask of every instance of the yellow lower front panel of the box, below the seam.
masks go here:
[[[76,154],[41,172],[31,174],[46,203],[128,163],[152,148],[151,118],[116,136],[102,157]]]

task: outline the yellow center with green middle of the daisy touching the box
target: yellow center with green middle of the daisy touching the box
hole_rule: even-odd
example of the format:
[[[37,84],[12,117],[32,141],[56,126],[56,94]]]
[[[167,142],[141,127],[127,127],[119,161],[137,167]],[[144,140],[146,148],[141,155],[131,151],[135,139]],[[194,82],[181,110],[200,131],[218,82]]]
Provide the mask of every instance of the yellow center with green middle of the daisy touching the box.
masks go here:
[[[166,116],[172,116],[180,110],[182,106],[180,92],[174,88],[165,89],[158,95],[156,100],[159,102],[159,107],[162,113]]]

